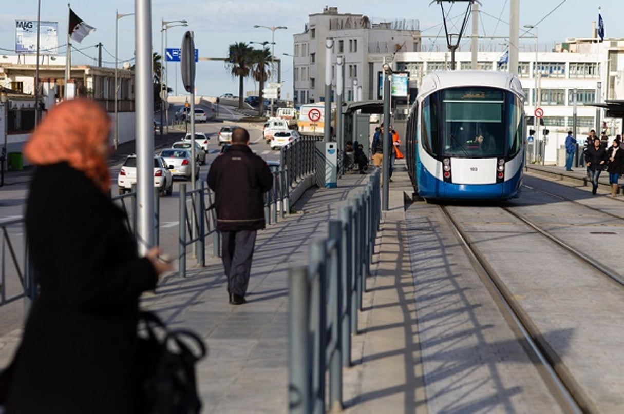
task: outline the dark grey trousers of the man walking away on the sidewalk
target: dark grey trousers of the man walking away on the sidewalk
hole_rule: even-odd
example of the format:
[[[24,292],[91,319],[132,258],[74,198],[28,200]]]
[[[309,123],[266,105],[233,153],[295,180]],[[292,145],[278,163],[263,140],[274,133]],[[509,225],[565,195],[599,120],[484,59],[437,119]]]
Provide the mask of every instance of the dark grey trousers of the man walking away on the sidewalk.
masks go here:
[[[245,297],[253,246],[256,243],[255,230],[222,231],[222,261],[228,278],[228,292]]]

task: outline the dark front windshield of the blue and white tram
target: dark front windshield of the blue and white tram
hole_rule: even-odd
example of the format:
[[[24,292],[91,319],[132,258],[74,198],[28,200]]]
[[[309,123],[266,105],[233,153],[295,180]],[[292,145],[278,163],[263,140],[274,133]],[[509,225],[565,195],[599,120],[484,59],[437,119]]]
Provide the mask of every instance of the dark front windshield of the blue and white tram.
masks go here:
[[[423,137],[429,138],[432,155],[480,158],[519,150],[522,109],[510,92],[462,87],[436,92],[426,101]]]

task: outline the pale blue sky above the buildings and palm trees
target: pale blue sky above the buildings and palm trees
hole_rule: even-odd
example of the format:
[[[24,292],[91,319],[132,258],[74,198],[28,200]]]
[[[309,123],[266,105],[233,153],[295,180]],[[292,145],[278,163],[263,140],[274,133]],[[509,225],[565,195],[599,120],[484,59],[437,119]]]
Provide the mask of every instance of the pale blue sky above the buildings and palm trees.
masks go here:
[[[141,0],[137,0],[141,1]],[[59,27],[59,54],[65,54],[67,3],[59,0],[40,0],[41,21],[57,21]],[[510,0],[480,0],[480,35],[509,36]],[[288,29],[275,31],[275,57],[281,58],[282,96],[290,95],[293,89],[293,63],[284,53],[293,54],[293,35],[304,31],[308,15],[323,12],[325,6],[338,7],[339,13],[364,14],[373,22],[394,20],[417,20],[422,31],[422,48],[427,51],[445,51],[442,11],[439,4],[432,0],[411,1],[369,1],[369,0],[152,0],[152,44],[154,51],[160,54],[162,21],[187,20],[188,27],[170,27],[167,31],[167,46],[180,47],[186,30],[194,32],[195,47],[200,57],[223,58],[227,56],[228,46],[235,42],[271,41],[271,30],[254,28],[261,26],[286,26]],[[622,0],[520,0],[520,35],[524,25],[539,27],[540,51],[550,50],[555,42],[565,41],[567,37],[590,37],[592,21],[598,20],[598,7],[602,6],[605,37],[624,37],[624,28],[617,23],[617,17],[624,16]],[[82,43],[72,46],[79,51],[72,51],[72,64],[97,64],[97,45],[102,42],[103,65],[114,67],[115,51],[115,10],[120,14],[133,13],[135,1],[131,0],[72,0],[72,10],[87,24],[96,28]],[[461,18],[466,11],[466,2],[444,1],[445,14],[449,16],[447,24],[458,31]],[[37,20],[37,0],[0,0],[0,54],[11,55],[15,51],[16,20]],[[617,17],[616,17],[617,16]],[[467,32],[470,33],[470,22]],[[119,19],[119,62],[134,63],[134,16]],[[530,36],[527,34],[527,36]],[[520,40],[533,47],[535,39]],[[484,39],[482,48],[500,50],[504,39]],[[251,44],[260,47],[257,44]],[[468,50],[469,40],[462,41]],[[184,94],[179,70],[170,62],[168,83],[177,94]],[[176,76],[177,74],[177,76]],[[176,78],[177,82],[176,82]],[[238,95],[238,80],[220,60],[200,60],[197,64],[195,79],[196,94],[218,96],[225,93]],[[256,82],[247,80],[245,91],[257,89]],[[291,97],[290,97],[291,98]]]

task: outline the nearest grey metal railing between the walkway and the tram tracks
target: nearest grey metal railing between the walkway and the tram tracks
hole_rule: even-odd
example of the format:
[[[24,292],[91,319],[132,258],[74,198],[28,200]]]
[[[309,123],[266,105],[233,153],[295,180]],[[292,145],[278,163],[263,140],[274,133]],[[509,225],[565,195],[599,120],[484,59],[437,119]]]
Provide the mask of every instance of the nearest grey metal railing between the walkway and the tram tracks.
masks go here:
[[[289,413],[343,408],[342,368],[351,365],[380,220],[376,169],[366,190],[329,221],[328,238],[313,241],[308,267],[290,269]]]

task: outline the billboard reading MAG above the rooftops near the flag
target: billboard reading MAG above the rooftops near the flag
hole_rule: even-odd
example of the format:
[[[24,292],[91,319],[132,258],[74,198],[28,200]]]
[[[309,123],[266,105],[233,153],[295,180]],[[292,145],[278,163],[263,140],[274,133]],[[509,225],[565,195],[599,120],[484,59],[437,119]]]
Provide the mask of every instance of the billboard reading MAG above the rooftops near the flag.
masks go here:
[[[15,21],[15,53],[37,53],[37,21]],[[59,22],[39,22],[39,54],[59,54]]]

